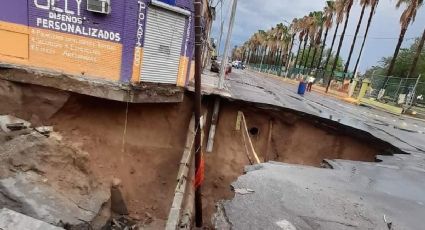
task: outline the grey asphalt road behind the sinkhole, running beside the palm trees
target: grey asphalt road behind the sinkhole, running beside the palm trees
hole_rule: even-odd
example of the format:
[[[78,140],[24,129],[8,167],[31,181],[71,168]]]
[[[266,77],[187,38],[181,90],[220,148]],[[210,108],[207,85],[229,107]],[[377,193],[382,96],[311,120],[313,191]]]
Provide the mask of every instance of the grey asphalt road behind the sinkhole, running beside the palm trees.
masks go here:
[[[425,152],[425,122],[356,106],[311,92],[297,94],[297,86],[249,70],[234,70],[225,82],[233,100],[272,105],[304,112],[360,129],[406,153]],[[314,87],[314,86],[313,86]]]

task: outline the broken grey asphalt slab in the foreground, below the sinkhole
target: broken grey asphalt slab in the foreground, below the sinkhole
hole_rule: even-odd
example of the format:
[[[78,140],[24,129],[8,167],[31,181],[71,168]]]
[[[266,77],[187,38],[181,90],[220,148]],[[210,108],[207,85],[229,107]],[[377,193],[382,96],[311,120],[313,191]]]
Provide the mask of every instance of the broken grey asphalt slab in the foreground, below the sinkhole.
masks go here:
[[[249,167],[233,187],[252,193],[221,204],[217,229],[423,228],[423,165],[330,164],[335,169],[277,162]]]

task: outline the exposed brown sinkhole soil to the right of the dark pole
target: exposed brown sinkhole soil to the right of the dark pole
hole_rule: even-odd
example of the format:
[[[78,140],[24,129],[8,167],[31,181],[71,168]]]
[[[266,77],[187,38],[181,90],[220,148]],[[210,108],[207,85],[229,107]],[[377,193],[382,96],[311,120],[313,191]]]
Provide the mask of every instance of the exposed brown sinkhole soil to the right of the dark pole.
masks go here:
[[[370,135],[333,122],[222,100],[214,150],[205,154],[203,198],[206,201],[204,216],[208,218],[215,213],[218,201],[233,198],[230,185],[243,174],[244,166],[250,163],[241,131],[235,130],[238,111],[242,111],[246,117],[253,146],[261,161],[267,150],[270,121],[273,123],[268,151],[270,161],[315,167],[321,167],[324,159],[374,162],[376,155],[393,149]],[[210,219],[205,222],[210,222]]]

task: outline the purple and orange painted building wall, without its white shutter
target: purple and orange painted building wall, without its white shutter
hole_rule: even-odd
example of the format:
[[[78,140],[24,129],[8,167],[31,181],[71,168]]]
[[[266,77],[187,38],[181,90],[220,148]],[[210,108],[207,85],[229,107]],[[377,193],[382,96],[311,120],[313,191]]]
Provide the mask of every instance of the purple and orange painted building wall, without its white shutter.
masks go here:
[[[161,0],[193,12],[193,0]],[[111,0],[111,13],[87,0],[3,0],[0,62],[120,82],[137,82],[150,0]],[[187,17],[178,85],[189,76],[193,13]],[[143,79],[143,76],[142,76]]]

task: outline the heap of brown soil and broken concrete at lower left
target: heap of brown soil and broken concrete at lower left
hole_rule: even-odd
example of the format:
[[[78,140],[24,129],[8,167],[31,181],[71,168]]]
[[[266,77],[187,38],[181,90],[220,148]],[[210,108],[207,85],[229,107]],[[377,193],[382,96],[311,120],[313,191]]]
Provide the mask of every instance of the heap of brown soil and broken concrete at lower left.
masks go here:
[[[2,127],[11,120],[30,127],[0,117]],[[0,131],[0,194],[3,207],[62,227],[92,221],[110,198],[92,175],[86,152],[33,129]]]

